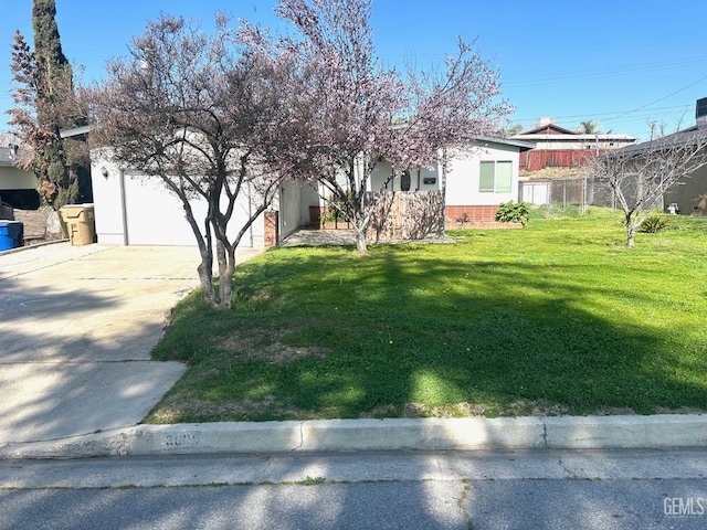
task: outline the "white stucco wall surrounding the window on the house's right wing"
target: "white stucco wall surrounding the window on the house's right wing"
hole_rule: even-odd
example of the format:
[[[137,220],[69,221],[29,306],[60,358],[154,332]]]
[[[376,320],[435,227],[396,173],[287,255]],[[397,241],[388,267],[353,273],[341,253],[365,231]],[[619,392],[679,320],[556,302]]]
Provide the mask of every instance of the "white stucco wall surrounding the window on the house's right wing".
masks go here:
[[[518,200],[518,148],[493,142],[479,142],[468,151],[454,155],[446,173],[447,205],[498,205]],[[482,161],[510,161],[513,165],[510,191],[481,192]]]

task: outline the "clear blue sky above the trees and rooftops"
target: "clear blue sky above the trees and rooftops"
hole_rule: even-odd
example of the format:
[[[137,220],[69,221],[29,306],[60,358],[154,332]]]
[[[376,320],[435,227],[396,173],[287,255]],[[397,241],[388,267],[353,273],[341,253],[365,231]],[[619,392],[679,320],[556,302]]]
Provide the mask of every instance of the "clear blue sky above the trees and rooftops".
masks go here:
[[[283,29],[275,0],[56,0],[65,55],[83,65],[84,82],[104,75],[107,60],[160,12],[194,18],[208,29],[217,11]],[[31,0],[2,0],[0,110],[12,106],[10,45],[19,29],[32,43]],[[373,0],[372,26],[387,66],[405,60],[440,65],[457,36],[476,39],[498,68],[503,96],[517,107],[513,124],[539,117],[574,128],[580,121],[646,139],[650,123],[668,131],[694,123],[707,97],[707,2],[675,0]],[[7,117],[0,131],[7,130]]]

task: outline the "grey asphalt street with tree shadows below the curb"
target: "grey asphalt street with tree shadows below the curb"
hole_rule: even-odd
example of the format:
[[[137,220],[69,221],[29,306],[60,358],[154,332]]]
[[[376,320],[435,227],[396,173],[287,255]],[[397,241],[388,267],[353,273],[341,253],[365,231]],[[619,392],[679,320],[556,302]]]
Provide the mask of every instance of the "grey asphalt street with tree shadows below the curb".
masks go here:
[[[703,529],[707,452],[0,462],[0,529]]]

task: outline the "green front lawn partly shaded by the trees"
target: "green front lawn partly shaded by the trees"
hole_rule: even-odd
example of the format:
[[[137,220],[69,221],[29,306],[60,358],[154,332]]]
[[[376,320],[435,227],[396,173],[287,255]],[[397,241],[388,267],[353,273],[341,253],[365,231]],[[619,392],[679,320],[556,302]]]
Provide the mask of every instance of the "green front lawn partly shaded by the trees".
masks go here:
[[[147,421],[707,410],[707,220],[634,250],[600,210],[450,234],[277,248],[232,310],[190,295],[154,351],[189,370]]]

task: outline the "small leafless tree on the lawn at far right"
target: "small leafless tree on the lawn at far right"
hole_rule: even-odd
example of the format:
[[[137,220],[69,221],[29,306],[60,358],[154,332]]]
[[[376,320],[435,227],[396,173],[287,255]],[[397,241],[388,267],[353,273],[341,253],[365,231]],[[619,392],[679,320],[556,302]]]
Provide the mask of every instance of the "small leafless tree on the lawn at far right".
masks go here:
[[[626,246],[635,246],[636,230],[662,204],[663,195],[707,165],[707,129],[659,137],[588,160],[585,170],[610,191],[621,208]]]

